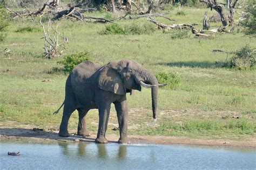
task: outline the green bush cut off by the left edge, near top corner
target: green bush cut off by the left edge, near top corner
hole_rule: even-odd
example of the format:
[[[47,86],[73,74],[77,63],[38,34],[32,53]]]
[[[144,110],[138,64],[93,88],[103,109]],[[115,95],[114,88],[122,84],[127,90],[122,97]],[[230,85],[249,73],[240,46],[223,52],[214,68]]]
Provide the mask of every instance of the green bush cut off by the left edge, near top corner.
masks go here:
[[[5,10],[4,6],[0,3],[0,41],[5,38],[5,29],[9,25],[9,13]]]

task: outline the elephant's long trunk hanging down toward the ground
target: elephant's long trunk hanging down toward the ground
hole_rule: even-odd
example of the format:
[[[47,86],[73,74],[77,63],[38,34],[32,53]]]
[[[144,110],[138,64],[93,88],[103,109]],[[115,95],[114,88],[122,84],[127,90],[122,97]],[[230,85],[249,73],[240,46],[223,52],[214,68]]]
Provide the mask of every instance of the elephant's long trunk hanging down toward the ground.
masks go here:
[[[146,82],[152,85],[156,85],[151,88],[151,97],[152,97],[152,111],[153,111],[153,118],[157,118],[157,93],[158,93],[158,81],[156,76],[149,73],[146,76]]]

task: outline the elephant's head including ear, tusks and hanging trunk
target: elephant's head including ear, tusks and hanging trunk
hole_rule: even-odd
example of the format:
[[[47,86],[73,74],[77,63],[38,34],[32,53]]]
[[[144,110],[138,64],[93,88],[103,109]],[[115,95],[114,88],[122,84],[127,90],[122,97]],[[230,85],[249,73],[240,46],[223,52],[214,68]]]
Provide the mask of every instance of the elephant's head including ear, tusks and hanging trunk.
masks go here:
[[[153,118],[157,118],[157,94],[158,87],[166,84],[158,84],[156,76],[130,60],[109,62],[100,69],[98,87],[111,91],[114,94],[124,95],[132,90],[142,90],[142,87],[151,88]]]

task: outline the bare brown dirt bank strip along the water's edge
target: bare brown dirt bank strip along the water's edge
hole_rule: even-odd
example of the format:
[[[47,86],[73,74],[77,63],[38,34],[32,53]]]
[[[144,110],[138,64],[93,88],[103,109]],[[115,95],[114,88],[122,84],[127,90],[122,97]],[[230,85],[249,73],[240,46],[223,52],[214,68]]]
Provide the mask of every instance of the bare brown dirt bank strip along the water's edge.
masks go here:
[[[72,131],[71,131],[72,132]],[[106,136],[109,142],[117,143],[119,136],[109,134]],[[0,127],[0,140],[25,138],[28,140],[61,140],[61,141],[84,141],[95,142],[96,134],[90,137],[76,136],[71,133],[70,137],[59,137],[58,131],[44,130],[33,131],[32,128],[3,128]],[[208,145],[208,146],[235,146],[256,147],[256,139],[248,137],[243,140],[229,139],[192,139],[188,137],[166,137],[166,136],[130,136],[133,144],[184,144],[184,145]]]

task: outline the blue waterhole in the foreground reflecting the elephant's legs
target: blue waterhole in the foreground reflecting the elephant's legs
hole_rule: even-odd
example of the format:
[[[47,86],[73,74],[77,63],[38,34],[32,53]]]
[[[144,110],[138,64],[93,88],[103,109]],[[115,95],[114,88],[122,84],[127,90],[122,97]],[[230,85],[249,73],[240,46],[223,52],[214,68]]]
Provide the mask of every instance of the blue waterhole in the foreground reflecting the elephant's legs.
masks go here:
[[[19,156],[7,153],[21,152]],[[256,169],[256,151],[181,145],[0,141],[0,169]]]

